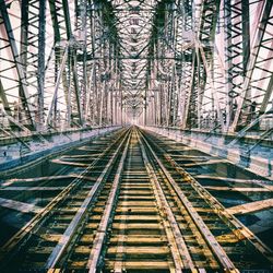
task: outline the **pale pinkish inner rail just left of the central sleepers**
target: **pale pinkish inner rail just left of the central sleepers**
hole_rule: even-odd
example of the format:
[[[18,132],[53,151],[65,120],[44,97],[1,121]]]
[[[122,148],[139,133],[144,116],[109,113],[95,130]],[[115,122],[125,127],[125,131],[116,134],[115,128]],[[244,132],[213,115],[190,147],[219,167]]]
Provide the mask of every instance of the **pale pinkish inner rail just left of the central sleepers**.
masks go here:
[[[110,222],[111,214],[115,207],[115,203],[118,198],[117,193],[120,188],[121,174],[124,167],[124,162],[126,162],[126,157],[127,157],[128,150],[129,150],[130,139],[131,139],[131,135],[129,135],[128,138],[126,147],[120,158],[120,163],[119,163],[117,173],[112,181],[112,187],[108,197],[108,201],[106,203],[104,214],[98,226],[99,232],[96,234],[94,242],[93,242],[93,247],[92,247],[90,258],[87,261],[87,266],[86,266],[90,273],[95,273],[97,271],[97,266],[99,265],[99,258],[100,258],[103,245],[105,242],[105,238],[107,235],[107,228],[109,226],[109,222]]]

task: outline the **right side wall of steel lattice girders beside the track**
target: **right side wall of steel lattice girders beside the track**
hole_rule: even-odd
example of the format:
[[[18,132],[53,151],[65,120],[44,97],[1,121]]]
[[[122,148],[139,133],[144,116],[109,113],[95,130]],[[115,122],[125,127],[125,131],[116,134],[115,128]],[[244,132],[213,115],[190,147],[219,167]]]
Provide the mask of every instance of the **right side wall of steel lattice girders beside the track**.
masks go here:
[[[162,1],[158,7],[156,49],[149,56],[154,56],[157,88],[152,87],[147,106],[157,107],[149,110],[157,117],[150,115],[147,122],[219,132],[270,129],[272,1]],[[176,86],[171,96],[169,86]]]

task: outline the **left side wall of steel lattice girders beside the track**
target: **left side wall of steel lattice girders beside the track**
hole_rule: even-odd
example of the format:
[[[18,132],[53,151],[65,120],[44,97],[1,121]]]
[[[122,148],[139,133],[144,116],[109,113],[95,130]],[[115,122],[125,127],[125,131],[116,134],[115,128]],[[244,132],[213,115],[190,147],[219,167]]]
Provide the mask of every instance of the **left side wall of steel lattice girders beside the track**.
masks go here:
[[[43,131],[120,123],[114,20],[107,1],[1,0],[5,127]]]

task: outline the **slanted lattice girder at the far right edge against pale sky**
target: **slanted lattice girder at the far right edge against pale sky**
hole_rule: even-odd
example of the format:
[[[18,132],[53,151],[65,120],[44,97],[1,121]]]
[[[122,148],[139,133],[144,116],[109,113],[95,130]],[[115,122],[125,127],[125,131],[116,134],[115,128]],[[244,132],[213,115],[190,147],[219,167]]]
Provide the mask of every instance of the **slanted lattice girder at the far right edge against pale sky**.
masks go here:
[[[246,76],[241,85],[238,107],[230,130],[246,127],[263,115],[272,96],[273,10],[272,1],[260,2],[257,28],[246,63]],[[257,78],[257,74],[260,74]]]

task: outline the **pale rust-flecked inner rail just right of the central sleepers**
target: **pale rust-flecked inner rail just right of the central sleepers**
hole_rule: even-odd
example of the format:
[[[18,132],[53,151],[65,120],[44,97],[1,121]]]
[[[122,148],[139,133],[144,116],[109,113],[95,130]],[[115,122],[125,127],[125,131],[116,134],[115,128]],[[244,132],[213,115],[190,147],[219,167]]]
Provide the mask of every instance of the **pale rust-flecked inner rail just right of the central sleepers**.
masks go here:
[[[166,235],[170,245],[170,251],[171,251],[174,263],[176,266],[176,272],[181,272],[182,269],[194,270],[195,268],[194,263],[191,259],[187,245],[183,240],[179,225],[176,222],[175,215],[163,192],[162,186],[157,179],[154,168],[152,167],[151,159],[149,159],[144,144],[139,134],[138,134],[138,140],[140,143],[141,153],[142,153],[142,157],[145,164],[145,168],[149,173],[150,180],[154,186],[153,187],[154,193],[155,193],[158,206],[159,206],[159,211],[165,212],[167,219],[168,219],[167,222],[164,221],[164,226],[165,226]]]

